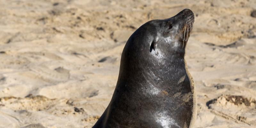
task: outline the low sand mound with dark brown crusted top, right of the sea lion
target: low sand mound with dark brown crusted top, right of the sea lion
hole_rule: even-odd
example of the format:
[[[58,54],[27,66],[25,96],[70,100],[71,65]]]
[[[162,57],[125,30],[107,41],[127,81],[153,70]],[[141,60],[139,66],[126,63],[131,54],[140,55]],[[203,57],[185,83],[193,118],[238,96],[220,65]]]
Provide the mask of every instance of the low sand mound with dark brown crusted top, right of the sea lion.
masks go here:
[[[206,103],[210,111],[227,120],[235,123],[244,123],[248,125],[255,124],[256,120],[249,111],[255,110],[256,100],[236,95],[221,95]]]

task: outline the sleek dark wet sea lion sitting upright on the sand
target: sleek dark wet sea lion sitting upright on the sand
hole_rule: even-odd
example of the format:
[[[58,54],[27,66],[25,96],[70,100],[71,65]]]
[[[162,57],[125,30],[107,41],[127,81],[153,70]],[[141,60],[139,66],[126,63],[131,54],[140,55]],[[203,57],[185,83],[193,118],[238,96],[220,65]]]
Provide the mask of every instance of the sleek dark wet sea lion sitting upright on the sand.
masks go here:
[[[128,39],[113,97],[92,128],[191,128],[196,96],[185,47],[194,13],[151,20]]]

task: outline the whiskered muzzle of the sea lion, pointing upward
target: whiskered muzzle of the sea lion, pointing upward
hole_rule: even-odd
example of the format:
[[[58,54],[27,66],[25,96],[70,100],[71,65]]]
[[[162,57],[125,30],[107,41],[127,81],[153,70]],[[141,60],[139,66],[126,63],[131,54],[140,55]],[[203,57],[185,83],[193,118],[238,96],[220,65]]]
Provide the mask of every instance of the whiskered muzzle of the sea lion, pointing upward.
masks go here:
[[[180,22],[180,39],[182,41],[182,48],[188,42],[188,38],[190,33],[192,32],[195,16],[194,13],[190,9],[184,9],[177,16],[181,17],[183,22]]]

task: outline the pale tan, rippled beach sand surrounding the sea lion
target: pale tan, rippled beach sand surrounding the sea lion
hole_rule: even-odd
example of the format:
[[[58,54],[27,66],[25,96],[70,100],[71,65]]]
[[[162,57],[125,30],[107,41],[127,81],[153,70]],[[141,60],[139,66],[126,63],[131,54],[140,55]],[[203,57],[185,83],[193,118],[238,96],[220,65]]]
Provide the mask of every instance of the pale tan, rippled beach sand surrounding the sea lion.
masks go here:
[[[92,127],[132,32],[184,8],[196,127],[255,128],[255,0],[0,0],[0,127]]]

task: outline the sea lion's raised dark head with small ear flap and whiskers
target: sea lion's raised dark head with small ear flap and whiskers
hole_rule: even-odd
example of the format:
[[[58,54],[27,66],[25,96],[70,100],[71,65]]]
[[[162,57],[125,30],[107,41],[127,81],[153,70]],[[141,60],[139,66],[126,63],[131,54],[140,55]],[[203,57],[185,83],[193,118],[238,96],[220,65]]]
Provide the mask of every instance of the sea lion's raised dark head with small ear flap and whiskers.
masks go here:
[[[193,24],[194,13],[190,9],[184,9],[168,19],[148,21],[128,39],[121,66],[122,63],[144,67],[163,66],[166,62],[177,60],[173,58],[184,59]]]

